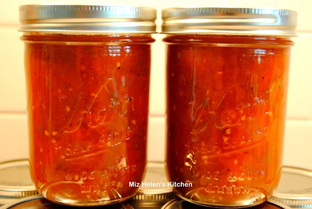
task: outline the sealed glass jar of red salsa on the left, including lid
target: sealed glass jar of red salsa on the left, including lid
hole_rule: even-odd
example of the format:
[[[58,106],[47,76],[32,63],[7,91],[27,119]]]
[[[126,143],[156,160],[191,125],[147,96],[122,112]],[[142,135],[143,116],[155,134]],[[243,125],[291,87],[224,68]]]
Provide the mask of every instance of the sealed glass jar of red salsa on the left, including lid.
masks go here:
[[[108,205],[146,169],[156,11],[24,5],[31,176],[47,199]]]

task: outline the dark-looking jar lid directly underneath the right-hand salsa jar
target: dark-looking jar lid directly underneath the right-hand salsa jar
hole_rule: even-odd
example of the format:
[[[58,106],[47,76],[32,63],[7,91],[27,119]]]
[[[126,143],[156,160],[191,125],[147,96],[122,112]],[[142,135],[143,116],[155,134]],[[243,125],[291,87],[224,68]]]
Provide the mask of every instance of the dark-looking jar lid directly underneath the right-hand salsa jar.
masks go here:
[[[193,203],[189,203],[180,198],[171,200],[166,205],[164,205],[162,209],[194,209],[194,208],[195,209],[208,209],[208,207],[195,205]],[[279,202],[270,200],[260,205],[251,207],[250,209],[291,209],[291,208]]]

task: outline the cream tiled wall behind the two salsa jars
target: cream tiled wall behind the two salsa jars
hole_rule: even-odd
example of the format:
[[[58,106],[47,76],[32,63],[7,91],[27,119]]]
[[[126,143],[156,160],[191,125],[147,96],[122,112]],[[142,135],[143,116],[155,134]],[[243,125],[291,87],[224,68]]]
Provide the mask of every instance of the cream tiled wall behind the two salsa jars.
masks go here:
[[[18,7],[29,3],[125,4],[155,7],[273,7],[298,12],[292,48],[284,164],[312,169],[312,0],[0,0],[0,161],[28,157],[23,43]],[[160,12],[159,12],[160,16]],[[161,20],[158,18],[160,25]],[[160,28],[159,28],[160,29]],[[165,156],[165,45],[154,35],[148,160]]]

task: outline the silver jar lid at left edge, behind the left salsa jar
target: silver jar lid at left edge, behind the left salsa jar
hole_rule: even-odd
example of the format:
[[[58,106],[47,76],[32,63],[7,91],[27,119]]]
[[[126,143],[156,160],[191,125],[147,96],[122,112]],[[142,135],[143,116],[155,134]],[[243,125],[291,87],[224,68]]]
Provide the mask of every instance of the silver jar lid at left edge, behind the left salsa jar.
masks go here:
[[[28,160],[0,163],[0,205],[37,193],[30,178]]]

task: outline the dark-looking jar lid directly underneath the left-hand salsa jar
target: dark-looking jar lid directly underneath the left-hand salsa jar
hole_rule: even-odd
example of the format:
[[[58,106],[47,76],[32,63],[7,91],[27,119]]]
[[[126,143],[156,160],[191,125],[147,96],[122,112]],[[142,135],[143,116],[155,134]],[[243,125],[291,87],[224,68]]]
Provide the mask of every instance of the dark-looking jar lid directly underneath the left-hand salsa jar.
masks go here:
[[[85,207],[79,207],[85,208]],[[23,198],[19,201],[4,205],[0,209],[73,209],[71,206],[59,205],[48,201],[41,195]],[[116,203],[105,206],[105,209],[134,209],[128,203]]]

